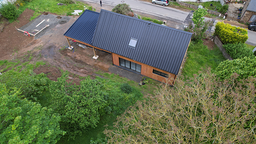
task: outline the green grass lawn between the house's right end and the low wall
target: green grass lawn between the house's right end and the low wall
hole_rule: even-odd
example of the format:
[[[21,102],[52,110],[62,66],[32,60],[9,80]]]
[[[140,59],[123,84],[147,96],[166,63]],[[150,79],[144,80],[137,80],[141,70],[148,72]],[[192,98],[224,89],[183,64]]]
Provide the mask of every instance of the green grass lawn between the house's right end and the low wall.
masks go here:
[[[193,74],[197,74],[199,70],[206,71],[209,67],[215,69],[224,60],[226,59],[216,45],[213,50],[209,50],[202,40],[198,42],[191,41],[182,75],[185,78],[193,77]]]

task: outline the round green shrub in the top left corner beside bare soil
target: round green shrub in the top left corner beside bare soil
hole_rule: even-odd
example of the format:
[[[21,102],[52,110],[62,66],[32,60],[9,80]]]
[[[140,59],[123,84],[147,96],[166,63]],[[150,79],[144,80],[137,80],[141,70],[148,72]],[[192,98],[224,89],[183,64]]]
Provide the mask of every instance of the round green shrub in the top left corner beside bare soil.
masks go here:
[[[20,12],[11,2],[0,3],[0,13],[10,22],[16,20],[20,15]]]

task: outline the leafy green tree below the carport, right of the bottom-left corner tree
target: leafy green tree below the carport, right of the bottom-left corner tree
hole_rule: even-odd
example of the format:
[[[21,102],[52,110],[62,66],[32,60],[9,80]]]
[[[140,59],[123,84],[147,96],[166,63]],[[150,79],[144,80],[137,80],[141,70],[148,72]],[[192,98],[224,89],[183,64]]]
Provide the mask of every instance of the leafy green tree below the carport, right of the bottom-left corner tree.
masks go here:
[[[87,78],[80,85],[66,82],[65,72],[57,82],[50,84],[52,108],[60,113],[61,128],[71,137],[82,134],[88,127],[96,127],[104,113],[107,101],[104,99],[103,84]]]

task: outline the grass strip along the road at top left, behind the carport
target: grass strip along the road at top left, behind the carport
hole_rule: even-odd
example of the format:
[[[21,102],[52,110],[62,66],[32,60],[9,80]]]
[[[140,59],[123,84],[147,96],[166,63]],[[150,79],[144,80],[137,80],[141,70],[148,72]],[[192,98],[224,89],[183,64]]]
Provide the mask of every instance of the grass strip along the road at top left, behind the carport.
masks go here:
[[[34,16],[31,17],[30,20],[35,19],[38,15],[42,14],[42,12],[52,12],[58,15],[72,15],[71,13],[74,12],[74,10],[84,10],[84,6],[88,7],[89,10],[92,11],[91,6],[79,1],[76,1],[76,4],[62,6],[57,5],[60,2],[56,0],[33,0],[31,2],[18,0],[16,3],[22,3],[19,8],[21,12],[27,8],[35,11]]]

